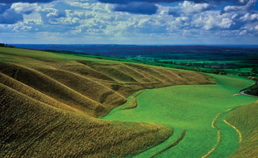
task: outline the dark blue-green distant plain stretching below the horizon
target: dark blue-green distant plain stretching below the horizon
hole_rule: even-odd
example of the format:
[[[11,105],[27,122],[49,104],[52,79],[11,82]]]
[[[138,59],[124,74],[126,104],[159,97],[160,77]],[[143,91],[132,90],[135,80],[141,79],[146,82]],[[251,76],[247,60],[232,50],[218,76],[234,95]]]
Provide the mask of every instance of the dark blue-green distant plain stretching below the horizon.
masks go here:
[[[258,48],[236,46],[172,45],[16,45],[31,49],[80,54],[213,74],[258,76]],[[92,56],[93,55],[93,56]],[[95,56],[94,56],[95,55]],[[245,70],[244,70],[245,69]],[[255,73],[255,74],[254,74]]]

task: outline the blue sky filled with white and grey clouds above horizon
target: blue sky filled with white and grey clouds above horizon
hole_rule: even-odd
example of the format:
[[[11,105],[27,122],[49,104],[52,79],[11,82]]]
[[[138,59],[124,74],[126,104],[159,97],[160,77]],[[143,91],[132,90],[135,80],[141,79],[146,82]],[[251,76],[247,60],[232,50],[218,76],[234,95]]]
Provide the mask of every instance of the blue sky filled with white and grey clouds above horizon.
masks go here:
[[[257,0],[0,0],[0,42],[258,45]]]

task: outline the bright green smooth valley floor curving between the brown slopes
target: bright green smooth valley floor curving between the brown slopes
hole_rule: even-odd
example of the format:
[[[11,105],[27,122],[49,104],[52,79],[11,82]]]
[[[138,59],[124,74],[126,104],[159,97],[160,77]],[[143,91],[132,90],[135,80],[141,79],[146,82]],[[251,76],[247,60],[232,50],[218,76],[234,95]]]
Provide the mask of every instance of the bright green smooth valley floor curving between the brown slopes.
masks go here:
[[[220,128],[222,139],[210,157],[228,157],[236,151],[239,143],[236,131],[223,122],[227,110],[249,104],[257,98],[234,95],[238,90],[253,84],[248,79],[209,75],[216,79],[216,85],[169,86],[145,90],[137,97],[138,105],[135,109],[114,109],[104,119],[159,123],[174,127],[171,138],[137,157],[149,157],[160,152],[179,138],[182,129],[186,130],[184,139],[157,157],[202,157],[218,141],[218,129],[211,127],[211,124],[221,113],[215,125]]]

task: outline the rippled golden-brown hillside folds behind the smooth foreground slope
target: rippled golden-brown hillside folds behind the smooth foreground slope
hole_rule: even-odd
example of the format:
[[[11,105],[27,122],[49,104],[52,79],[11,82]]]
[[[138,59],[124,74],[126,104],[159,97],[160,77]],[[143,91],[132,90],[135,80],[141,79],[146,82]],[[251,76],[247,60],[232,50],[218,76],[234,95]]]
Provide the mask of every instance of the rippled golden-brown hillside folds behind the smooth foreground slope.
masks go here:
[[[29,60],[34,62],[0,63],[0,72],[95,117],[105,116],[140,89],[211,83],[202,74],[128,63]]]

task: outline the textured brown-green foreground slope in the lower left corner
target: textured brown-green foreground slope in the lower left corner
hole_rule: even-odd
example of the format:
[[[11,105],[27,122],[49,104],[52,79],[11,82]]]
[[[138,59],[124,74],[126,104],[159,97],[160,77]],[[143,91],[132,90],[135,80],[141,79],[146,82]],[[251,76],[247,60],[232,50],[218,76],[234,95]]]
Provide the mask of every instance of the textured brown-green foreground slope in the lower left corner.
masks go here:
[[[0,92],[5,94],[0,97],[1,157],[122,157],[173,132],[162,125],[107,122],[61,111],[2,84]]]

